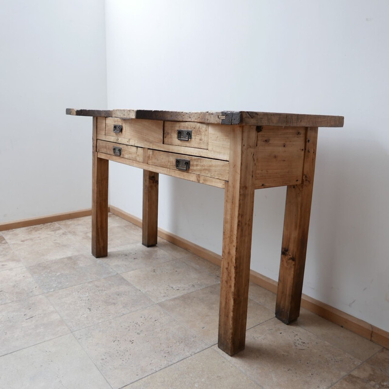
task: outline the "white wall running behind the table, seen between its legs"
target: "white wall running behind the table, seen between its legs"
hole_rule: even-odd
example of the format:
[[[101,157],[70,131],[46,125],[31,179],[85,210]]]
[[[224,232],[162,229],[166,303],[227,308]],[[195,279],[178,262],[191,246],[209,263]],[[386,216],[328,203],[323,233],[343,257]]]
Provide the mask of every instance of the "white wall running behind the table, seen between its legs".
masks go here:
[[[387,331],[388,14],[386,0],[106,0],[110,108],[345,116],[319,131],[303,292]],[[111,204],[141,217],[141,170],[110,169]],[[159,226],[221,253],[223,201],[160,176]],[[284,201],[255,194],[251,267],[274,280]]]

